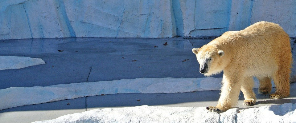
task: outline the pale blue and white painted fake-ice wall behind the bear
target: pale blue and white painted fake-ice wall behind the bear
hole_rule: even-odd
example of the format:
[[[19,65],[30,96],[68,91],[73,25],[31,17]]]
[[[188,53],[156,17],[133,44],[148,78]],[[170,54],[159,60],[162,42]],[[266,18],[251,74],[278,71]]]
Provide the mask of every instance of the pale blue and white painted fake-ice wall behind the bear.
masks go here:
[[[296,37],[295,6],[294,0],[2,0],[0,39],[219,36],[258,21]]]

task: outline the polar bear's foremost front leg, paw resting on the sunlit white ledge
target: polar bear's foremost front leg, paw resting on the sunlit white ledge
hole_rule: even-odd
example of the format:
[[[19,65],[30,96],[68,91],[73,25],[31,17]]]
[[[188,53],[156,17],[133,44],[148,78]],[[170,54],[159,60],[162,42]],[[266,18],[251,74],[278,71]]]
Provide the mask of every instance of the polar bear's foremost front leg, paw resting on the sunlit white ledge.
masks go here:
[[[241,82],[243,80],[241,77],[232,75],[232,77],[223,75],[221,95],[218,104],[214,106],[209,106],[206,109],[210,112],[222,113],[230,109],[233,105],[237,103],[238,96],[240,94]]]

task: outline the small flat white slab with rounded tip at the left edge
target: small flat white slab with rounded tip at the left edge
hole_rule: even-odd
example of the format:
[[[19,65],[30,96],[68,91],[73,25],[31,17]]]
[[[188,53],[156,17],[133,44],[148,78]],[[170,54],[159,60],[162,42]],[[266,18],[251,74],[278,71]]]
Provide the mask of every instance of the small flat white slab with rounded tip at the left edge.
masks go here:
[[[0,70],[20,69],[28,66],[41,65],[45,62],[41,58],[18,57],[18,56],[0,56]]]

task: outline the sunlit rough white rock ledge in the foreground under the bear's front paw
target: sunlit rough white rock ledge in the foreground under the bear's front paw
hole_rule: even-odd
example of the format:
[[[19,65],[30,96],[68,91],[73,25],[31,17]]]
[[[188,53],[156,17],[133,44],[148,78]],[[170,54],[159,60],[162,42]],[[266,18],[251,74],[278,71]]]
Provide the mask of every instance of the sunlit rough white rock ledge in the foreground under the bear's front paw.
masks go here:
[[[229,109],[224,113],[208,112],[205,107],[136,106],[126,108],[94,109],[68,114],[48,121],[35,123],[228,123],[228,122],[296,122],[296,104],[261,106],[239,110]],[[240,112],[240,113],[239,113]],[[237,120],[236,120],[237,119]]]

